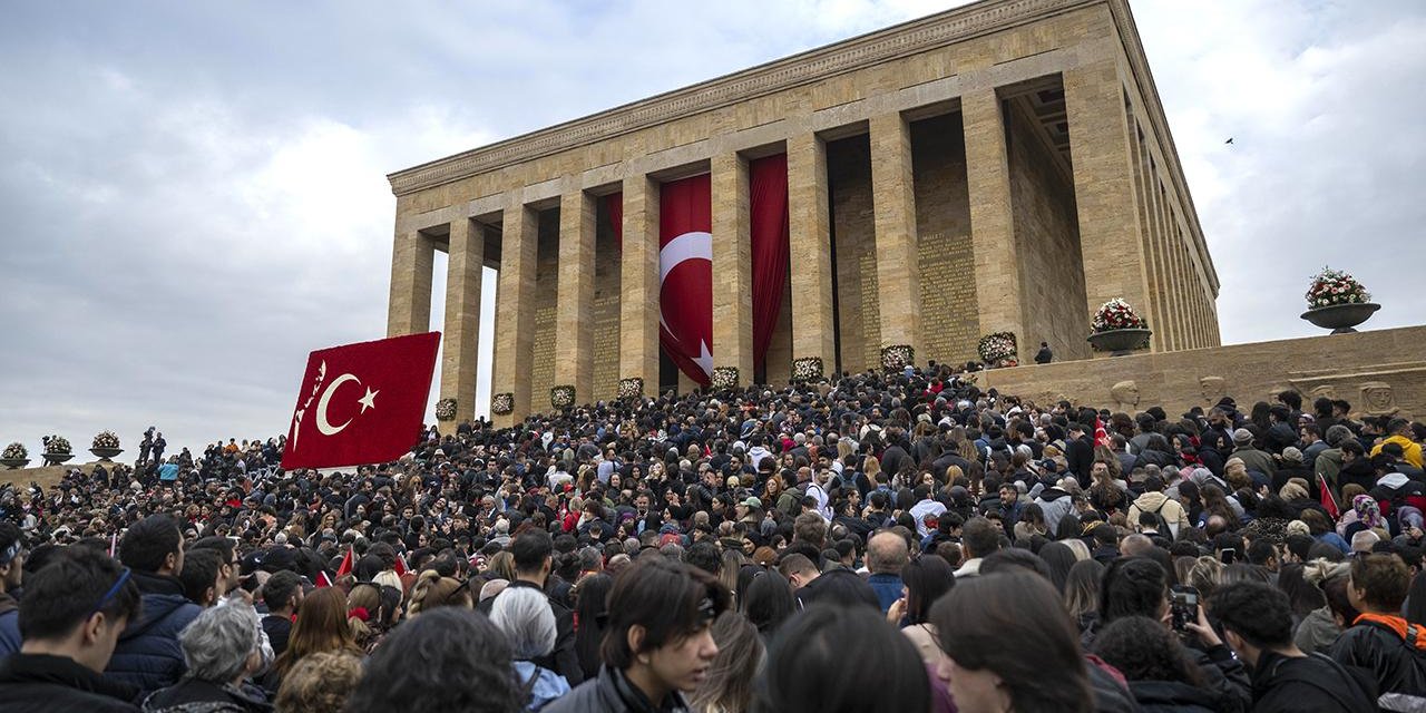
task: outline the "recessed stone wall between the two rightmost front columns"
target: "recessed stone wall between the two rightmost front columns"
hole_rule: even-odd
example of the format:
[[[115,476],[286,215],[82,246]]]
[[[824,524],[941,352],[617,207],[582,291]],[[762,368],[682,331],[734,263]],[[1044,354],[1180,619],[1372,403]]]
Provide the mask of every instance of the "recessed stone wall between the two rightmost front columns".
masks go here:
[[[1020,242],[1020,289],[1025,305],[1025,334],[1017,335],[1020,358],[1034,358],[1040,342],[1047,341],[1058,358],[1084,359],[1091,355],[1082,334],[1089,328],[1088,277],[1079,268],[1074,185],[1020,106],[1007,103],[1007,107],[1011,114],[1007,137],[1011,214]]]

